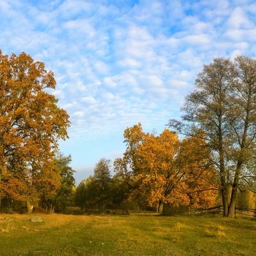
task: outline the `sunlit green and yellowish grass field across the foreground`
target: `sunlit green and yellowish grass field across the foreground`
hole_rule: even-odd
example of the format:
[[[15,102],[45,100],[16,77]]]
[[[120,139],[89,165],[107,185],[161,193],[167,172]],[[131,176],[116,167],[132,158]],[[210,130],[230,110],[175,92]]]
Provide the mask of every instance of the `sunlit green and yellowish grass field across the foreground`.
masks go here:
[[[2,214],[0,255],[256,255],[256,218]]]

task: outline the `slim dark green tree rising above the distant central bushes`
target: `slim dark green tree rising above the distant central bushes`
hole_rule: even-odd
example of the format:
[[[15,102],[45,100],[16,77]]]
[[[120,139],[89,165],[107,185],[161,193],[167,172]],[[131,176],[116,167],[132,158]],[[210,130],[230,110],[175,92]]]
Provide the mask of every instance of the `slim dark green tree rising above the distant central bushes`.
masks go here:
[[[93,180],[99,188],[99,202],[101,204],[102,213],[106,213],[106,203],[108,199],[109,183],[111,181],[110,175],[110,160],[102,158],[95,165]]]

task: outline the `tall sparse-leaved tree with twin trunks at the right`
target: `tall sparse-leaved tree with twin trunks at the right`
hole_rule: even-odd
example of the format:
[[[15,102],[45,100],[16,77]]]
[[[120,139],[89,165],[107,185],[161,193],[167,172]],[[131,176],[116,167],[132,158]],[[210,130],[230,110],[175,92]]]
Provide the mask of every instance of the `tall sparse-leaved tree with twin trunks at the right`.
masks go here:
[[[224,216],[235,216],[237,190],[254,161],[256,140],[256,61],[237,56],[215,58],[204,65],[196,90],[186,97],[182,122],[170,120],[176,131],[195,136],[204,131],[220,178]],[[232,188],[229,199],[228,188]]]

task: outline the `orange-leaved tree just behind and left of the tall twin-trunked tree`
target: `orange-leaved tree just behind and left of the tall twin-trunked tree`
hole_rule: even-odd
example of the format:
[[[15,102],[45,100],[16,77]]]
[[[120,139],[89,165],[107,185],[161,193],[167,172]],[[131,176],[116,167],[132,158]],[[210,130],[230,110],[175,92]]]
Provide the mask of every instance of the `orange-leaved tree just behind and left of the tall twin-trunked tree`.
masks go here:
[[[189,209],[212,207],[218,196],[218,177],[204,134],[188,136],[180,143],[179,168],[183,169],[184,194],[189,198]]]

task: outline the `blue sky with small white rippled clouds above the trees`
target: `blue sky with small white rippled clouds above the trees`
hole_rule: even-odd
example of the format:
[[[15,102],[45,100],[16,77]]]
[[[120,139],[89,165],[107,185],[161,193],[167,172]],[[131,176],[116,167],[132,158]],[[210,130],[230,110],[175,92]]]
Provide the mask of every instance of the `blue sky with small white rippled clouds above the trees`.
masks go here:
[[[122,157],[127,127],[140,122],[160,134],[179,118],[213,58],[255,58],[256,3],[1,0],[0,49],[26,52],[54,72],[50,93],[71,122],[60,151],[72,156],[78,184],[102,157]]]

